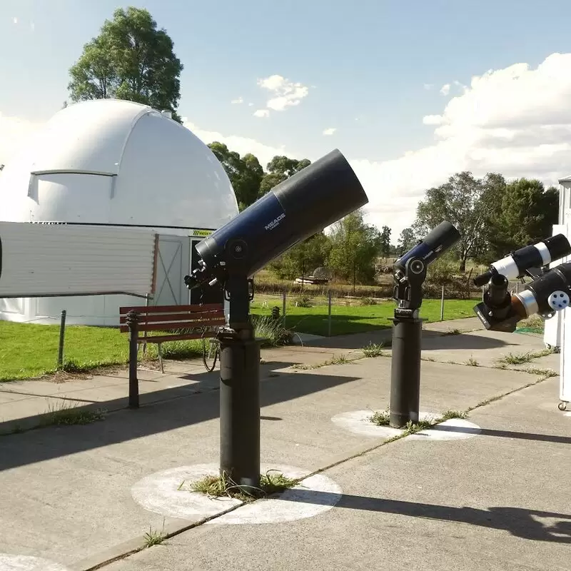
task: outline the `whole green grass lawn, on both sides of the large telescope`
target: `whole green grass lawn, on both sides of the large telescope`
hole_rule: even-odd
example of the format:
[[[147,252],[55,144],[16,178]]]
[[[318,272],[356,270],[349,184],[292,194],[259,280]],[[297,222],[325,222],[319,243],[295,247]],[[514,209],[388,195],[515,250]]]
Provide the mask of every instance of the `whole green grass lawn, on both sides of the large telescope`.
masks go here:
[[[252,304],[253,315],[270,315],[276,298],[263,307],[263,296]],[[317,300],[319,303],[319,300]],[[445,300],[444,318],[473,317],[474,300]],[[390,328],[395,304],[333,305],[332,335],[360,333]],[[421,308],[425,320],[440,319],[440,300],[425,300]],[[297,333],[327,335],[328,309],[325,300],[310,308],[288,305],[285,325]],[[35,325],[0,321],[0,381],[38,377],[56,370],[59,325]],[[200,341],[177,341],[163,345],[165,358],[200,355]],[[68,325],[65,337],[65,360],[79,370],[128,362],[128,335],[117,329]],[[139,353],[141,355],[141,353]],[[148,345],[148,357],[156,357],[156,345]]]

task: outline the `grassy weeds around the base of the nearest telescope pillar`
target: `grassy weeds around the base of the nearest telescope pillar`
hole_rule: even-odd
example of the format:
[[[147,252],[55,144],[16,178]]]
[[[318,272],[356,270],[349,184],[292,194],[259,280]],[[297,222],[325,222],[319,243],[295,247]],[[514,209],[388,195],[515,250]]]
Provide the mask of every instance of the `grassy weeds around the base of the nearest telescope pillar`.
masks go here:
[[[208,495],[208,497],[233,497],[242,502],[252,502],[261,497],[268,497],[288,490],[298,484],[298,480],[287,477],[277,472],[272,475],[271,472],[277,470],[268,470],[266,474],[260,476],[260,487],[238,485],[227,475],[208,475],[198,482],[193,482],[190,486],[192,492],[200,492]],[[183,482],[184,483],[184,482]],[[181,484],[178,489],[182,490]]]

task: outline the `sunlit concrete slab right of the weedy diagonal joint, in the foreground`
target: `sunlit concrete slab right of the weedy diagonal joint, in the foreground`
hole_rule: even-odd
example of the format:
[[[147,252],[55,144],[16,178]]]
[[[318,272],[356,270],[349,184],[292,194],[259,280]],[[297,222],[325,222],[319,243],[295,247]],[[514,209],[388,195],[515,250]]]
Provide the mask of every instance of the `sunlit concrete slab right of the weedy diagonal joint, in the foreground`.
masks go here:
[[[545,381],[478,410],[477,438],[407,438],[326,470],[343,496],[316,517],[202,525],[106,569],[567,571],[571,422],[538,406],[554,390]]]

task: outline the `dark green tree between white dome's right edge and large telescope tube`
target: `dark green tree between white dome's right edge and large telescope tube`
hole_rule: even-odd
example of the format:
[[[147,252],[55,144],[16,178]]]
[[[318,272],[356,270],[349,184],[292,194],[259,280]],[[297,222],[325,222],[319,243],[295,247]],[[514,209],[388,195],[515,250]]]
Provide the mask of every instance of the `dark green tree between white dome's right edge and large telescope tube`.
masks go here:
[[[256,202],[263,178],[263,168],[253,154],[241,157],[236,151],[230,151],[224,143],[214,141],[208,147],[222,164],[232,183],[238,208],[242,211]]]

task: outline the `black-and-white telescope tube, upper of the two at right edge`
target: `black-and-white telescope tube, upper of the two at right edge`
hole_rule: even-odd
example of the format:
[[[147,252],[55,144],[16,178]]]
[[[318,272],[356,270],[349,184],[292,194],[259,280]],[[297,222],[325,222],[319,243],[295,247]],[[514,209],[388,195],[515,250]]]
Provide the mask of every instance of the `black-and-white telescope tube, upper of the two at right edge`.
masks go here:
[[[571,254],[571,245],[563,234],[546,238],[532,246],[524,246],[490,265],[490,270],[474,278],[474,285],[485,285],[494,273],[500,273],[508,280],[525,276],[530,268],[541,268],[552,261],[560,260]]]

